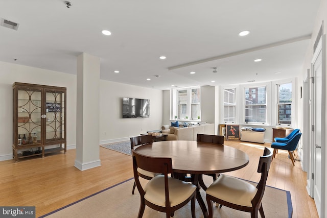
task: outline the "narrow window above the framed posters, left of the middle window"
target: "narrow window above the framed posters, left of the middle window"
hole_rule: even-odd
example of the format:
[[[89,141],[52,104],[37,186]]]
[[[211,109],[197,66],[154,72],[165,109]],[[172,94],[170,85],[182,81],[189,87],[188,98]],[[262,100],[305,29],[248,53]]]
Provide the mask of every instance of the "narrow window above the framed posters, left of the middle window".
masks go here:
[[[224,123],[236,123],[235,88],[224,88]]]

